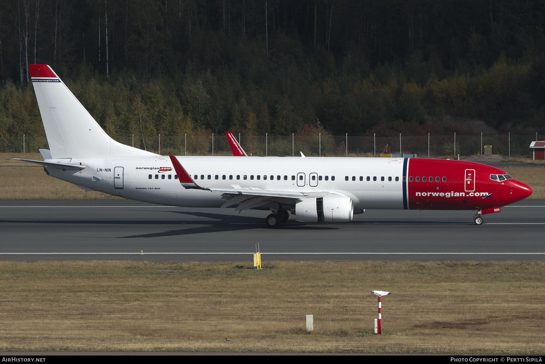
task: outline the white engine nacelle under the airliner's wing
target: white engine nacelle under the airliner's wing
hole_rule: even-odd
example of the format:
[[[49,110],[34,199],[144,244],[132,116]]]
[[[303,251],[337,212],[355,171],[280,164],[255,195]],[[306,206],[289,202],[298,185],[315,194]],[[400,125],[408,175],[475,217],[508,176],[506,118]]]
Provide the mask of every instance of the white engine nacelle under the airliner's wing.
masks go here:
[[[354,202],[344,196],[313,197],[296,203],[294,212],[298,221],[347,222],[354,216]]]

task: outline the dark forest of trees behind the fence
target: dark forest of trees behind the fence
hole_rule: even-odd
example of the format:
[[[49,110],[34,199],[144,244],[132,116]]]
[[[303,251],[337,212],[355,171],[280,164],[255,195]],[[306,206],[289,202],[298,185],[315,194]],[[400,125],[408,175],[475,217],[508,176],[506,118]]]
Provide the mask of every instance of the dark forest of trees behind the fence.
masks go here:
[[[28,64],[114,138],[543,134],[544,23],[530,0],[3,0],[0,137],[44,134]]]

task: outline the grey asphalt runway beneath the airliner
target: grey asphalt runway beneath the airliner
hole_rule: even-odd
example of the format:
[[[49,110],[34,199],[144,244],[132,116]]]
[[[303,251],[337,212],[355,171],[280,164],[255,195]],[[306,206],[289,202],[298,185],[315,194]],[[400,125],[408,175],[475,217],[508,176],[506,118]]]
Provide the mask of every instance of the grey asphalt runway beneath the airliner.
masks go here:
[[[267,229],[268,211],[135,201],[0,201],[0,260],[543,261],[545,201],[473,211],[367,210],[348,223]]]

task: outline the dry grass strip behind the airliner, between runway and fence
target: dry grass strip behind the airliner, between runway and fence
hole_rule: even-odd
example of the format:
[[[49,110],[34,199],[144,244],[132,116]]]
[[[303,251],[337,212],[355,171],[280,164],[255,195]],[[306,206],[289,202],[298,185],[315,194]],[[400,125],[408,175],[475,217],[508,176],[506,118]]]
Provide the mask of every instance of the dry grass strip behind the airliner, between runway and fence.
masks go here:
[[[43,160],[39,153],[0,153],[0,199],[120,199],[102,192],[85,192],[71,183],[49,177],[39,165],[11,158]],[[545,167],[505,167],[504,170],[532,187],[534,193],[530,199],[545,199]]]

